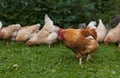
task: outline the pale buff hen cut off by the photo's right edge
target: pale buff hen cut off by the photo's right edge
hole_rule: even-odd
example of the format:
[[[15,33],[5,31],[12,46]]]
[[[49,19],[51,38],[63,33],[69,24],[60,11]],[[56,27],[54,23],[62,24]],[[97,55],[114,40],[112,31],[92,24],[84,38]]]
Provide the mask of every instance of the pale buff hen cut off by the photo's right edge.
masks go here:
[[[105,43],[118,43],[118,50],[120,50],[120,23],[111,29],[104,39]]]

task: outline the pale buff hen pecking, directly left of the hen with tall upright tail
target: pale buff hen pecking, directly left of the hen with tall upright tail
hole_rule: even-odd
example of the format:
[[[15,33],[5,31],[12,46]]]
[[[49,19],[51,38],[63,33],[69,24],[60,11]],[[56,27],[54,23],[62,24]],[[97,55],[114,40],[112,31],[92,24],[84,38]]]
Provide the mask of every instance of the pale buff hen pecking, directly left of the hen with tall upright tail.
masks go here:
[[[16,36],[16,41],[20,42],[28,40],[31,36],[34,36],[37,31],[39,31],[39,28],[40,24],[21,27]]]

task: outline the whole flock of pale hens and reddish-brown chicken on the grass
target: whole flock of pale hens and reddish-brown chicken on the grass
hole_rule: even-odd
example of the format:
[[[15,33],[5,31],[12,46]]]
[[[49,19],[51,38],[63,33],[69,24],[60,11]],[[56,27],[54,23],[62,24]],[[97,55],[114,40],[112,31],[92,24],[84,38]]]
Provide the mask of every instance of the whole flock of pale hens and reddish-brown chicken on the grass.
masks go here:
[[[50,48],[51,44],[63,41],[79,59],[79,64],[82,64],[83,56],[87,56],[87,61],[91,59],[91,53],[97,50],[100,42],[117,43],[120,51],[120,23],[109,31],[101,19],[98,25],[97,22],[91,21],[85,28],[63,29],[54,25],[48,15],[45,15],[45,24],[42,29],[40,24],[2,26],[0,21],[0,39],[25,42],[26,46],[46,44]]]

